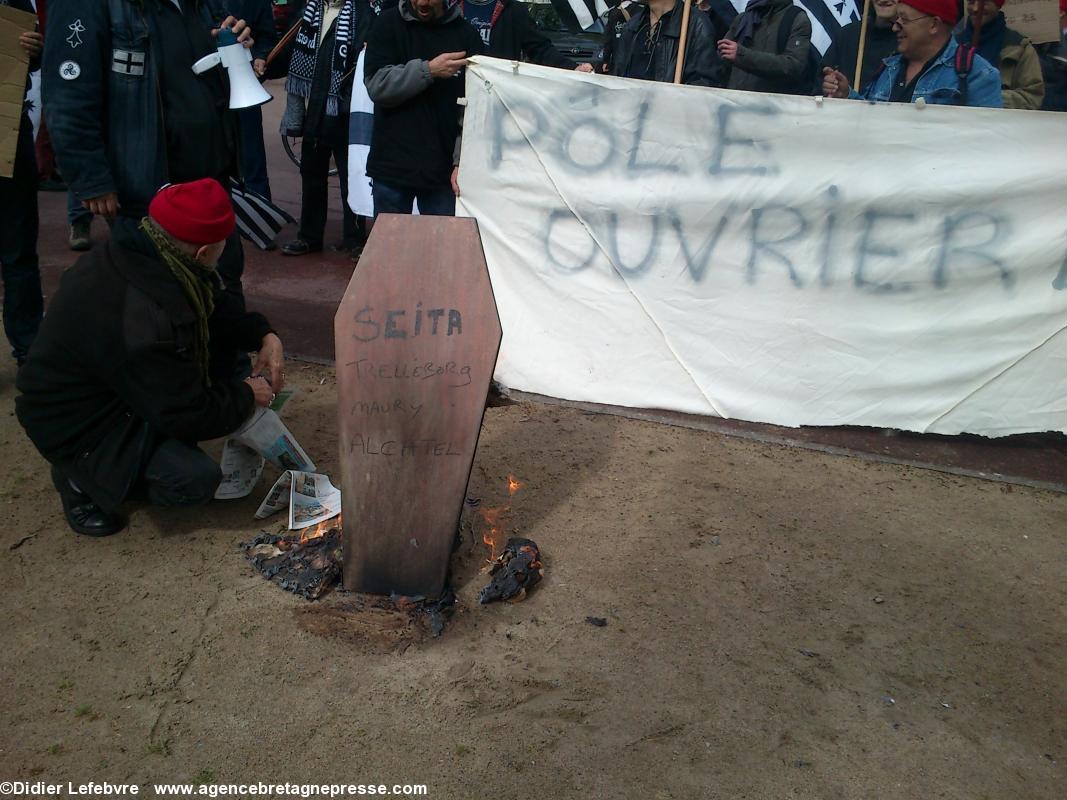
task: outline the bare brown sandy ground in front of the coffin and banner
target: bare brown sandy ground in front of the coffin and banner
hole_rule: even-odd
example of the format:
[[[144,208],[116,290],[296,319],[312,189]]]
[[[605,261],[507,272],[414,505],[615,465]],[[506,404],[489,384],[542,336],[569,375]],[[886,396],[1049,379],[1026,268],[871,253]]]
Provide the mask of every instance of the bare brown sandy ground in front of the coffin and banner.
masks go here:
[[[290,373],[286,417],[336,476],[333,373]],[[4,361],[0,780],[1067,797],[1067,497],[492,409],[469,494],[524,481],[505,527],[541,545],[544,582],[479,607],[468,518],[450,628],[383,652],[308,633],[308,604],[253,574],[259,491],[74,535],[13,379]]]

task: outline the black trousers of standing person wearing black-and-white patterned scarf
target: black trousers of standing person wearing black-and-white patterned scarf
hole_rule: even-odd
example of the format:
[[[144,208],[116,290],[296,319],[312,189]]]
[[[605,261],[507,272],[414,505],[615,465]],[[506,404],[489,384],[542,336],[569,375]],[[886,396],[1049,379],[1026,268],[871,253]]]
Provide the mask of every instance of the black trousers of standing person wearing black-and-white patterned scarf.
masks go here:
[[[355,224],[355,214],[348,207],[348,126],[336,126],[339,130],[322,138],[304,138],[300,143],[300,230],[301,239],[312,247],[322,246],[327,230],[327,209],[329,204],[330,156],[337,164],[340,178],[340,199],[344,213],[341,236],[346,243],[362,241]]]

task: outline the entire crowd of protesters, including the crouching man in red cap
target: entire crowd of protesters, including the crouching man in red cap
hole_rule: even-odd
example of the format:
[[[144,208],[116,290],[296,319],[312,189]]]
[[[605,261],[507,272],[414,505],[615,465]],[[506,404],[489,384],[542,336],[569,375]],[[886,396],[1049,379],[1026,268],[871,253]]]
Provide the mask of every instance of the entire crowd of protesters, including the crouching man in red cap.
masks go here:
[[[262,116],[229,111],[224,69],[192,69],[220,30],[250,50],[255,75],[286,79],[282,131],[301,139],[302,195],[282,253],[299,257],[324,246],[331,160],[345,197],[353,142],[369,143],[376,213],[416,203],[455,213],[457,100],[479,53],[662,82],[681,58],[682,82],[697,85],[1067,110],[1065,41],[1035,47],[1007,28],[1003,0],[967,1],[965,15],[958,0],[874,0],[860,59],[858,22],[819,55],[792,0],[751,0],[739,14],[700,0],[687,25],[682,0],[623,0],[601,57],[575,63],[519,0],[0,0],[38,17],[19,45],[42,70],[44,108],[36,142],[23,114],[14,175],[0,178],[4,332],[18,417],[52,465],[68,524],[113,533],[137,492],[161,505],[209,499],[219,468],[197,443],[233,432],[284,382],[281,340],[244,306],[228,194],[238,180],[271,196]],[[1067,29],[1067,0],[1060,9]],[[368,129],[349,113],[361,53]],[[43,185],[68,193],[73,250],[91,249],[96,217],[111,229],[64,274],[47,318]],[[337,246],[356,254],[370,223],[343,208]]]

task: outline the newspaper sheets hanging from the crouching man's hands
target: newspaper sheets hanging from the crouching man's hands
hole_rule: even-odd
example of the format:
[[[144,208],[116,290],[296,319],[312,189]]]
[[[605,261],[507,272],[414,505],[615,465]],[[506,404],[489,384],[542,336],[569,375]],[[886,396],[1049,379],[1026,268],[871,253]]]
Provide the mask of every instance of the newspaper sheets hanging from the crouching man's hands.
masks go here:
[[[307,453],[297,444],[289,429],[277,417],[299,390],[299,387],[291,387],[278,391],[269,409],[256,409],[249,421],[226,439],[222,446],[220,464],[222,483],[214,492],[214,499],[239,500],[252,494],[264,471],[266,462],[264,455],[267,455],[278,469],[293,467],[315,469],[315,464],[307,458]],[[273,457],[271,453],[277,455]]]

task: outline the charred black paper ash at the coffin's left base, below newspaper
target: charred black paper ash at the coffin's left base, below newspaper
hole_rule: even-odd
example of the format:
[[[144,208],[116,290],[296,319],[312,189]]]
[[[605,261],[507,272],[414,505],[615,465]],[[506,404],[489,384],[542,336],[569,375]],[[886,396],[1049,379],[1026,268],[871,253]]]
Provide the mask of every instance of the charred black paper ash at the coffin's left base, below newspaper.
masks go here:
[[[318,599],[340,580],[339,527],[313,539],[260,533],[241,547],[265,578],[305,599]]]

